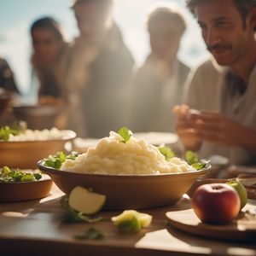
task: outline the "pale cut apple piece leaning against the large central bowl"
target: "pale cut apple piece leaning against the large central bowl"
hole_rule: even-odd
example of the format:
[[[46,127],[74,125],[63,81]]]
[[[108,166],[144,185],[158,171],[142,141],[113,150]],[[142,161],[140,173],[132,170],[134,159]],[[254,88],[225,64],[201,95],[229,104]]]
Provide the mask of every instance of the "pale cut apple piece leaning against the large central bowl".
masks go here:
[[[69,206],[84,214],[99,212],[106,201],[106,195],[90,192],[83,187],[75,187],[69,195]]]

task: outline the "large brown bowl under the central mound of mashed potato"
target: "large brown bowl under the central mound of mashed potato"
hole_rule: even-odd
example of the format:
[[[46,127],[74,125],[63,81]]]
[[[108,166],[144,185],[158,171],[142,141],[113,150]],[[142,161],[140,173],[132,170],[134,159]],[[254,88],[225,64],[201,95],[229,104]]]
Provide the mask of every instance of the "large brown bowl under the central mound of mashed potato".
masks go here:
[[[195,172],[159,175],[102,175],[55,170],[38,162],[38,168],[48,174],[67,195],[76,186],[91,188],[107,196],[105,209],[141,209],[161,207],[177,202],[197,177],[206,174],[210,166]]]

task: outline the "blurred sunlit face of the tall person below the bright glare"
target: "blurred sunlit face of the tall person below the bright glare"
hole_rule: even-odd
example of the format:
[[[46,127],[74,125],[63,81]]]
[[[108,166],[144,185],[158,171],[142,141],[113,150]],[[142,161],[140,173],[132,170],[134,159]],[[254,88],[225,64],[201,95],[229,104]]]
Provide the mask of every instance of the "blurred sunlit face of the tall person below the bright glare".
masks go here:
[[[90,44],[99,44],[108,31],[108,11],[104,13],[93,2],[78,3],[74,6],[80,36]]]

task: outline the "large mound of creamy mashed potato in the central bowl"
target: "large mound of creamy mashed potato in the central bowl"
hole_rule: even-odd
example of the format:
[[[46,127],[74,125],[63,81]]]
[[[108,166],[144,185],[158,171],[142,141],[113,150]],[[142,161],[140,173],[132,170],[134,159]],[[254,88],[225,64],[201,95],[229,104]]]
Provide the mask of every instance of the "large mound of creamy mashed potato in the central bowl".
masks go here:
[[[160,174],[191,172],[195,168],[177,157],[166,161],[158,148],[143,139],[131,137],[127,143],[111,131],[95,148],[79,154],[76,160],[66,160],[61,170],[94,174]]]

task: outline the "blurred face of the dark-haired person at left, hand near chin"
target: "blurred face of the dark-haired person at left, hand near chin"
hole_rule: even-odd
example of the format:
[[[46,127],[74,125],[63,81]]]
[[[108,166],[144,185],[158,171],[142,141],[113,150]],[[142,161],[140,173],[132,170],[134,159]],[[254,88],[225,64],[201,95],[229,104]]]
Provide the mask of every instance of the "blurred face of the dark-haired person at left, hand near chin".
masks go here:
[[[32,44],[38,63],[48,65],[55,61],[63,43],[54,32],[36,28],[32,32]]]

